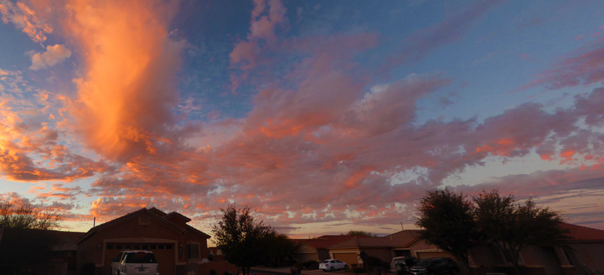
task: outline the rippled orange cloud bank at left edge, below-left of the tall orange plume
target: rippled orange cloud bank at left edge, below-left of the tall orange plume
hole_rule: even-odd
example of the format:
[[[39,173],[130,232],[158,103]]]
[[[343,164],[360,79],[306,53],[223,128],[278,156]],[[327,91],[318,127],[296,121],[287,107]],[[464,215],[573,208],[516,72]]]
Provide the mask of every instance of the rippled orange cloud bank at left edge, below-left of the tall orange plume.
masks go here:
[[[109,169],[67,148],[51,109],[61,108],[21,72],[0,69],[0,173],[14,181],[90,177]],[[6,85],[6,88],[1,88]],[[61,117],[56,113],[58,118]]]

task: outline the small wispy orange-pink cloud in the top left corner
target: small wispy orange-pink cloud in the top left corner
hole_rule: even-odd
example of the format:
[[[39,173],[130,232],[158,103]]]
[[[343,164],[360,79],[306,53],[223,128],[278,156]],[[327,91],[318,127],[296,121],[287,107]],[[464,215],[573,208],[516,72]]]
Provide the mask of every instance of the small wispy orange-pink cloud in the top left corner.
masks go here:
[[[13,23],[36,43],[46,41],[46,34],[52,32],[52,27],[44,23],[28,5],[21,2],[14,4],[8,0],[0,0],[0,15],[5,24]]]

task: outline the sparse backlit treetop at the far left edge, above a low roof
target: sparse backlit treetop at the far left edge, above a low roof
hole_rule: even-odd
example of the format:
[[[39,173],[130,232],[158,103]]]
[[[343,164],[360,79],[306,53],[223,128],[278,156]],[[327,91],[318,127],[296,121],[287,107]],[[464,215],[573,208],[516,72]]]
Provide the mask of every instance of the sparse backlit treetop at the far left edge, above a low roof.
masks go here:
[[[49,230],[58,228],[61,214],[46,208],[34,209],[31,203],[17,206],[8,199],[0,199],[0,228]]]

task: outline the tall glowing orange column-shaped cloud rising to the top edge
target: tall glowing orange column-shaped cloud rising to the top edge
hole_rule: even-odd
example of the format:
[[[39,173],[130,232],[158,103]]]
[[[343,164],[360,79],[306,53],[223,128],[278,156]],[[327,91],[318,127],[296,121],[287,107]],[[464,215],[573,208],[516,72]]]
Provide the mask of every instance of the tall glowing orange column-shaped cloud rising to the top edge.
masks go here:
[[[149,1],[72,1],[69,30],[83,47],[85,74],[72,106],[87,144],[112,159],[153,155],[180,102],[174,76],[184,41],[169,38],[175,6]]]

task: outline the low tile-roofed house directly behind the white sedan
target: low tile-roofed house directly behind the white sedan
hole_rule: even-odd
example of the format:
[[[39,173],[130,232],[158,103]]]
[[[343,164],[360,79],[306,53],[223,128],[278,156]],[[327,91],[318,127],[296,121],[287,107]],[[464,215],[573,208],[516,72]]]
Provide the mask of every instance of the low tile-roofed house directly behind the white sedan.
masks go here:
[[[449,256],[429,245],[419,236],[419,230],[402,230],[388,236],[355,236],[328,248],[330,258],[351,266],[363,265],[365,256],[374,256],[389,263],[396,256],[416,256],[419,259]]]

